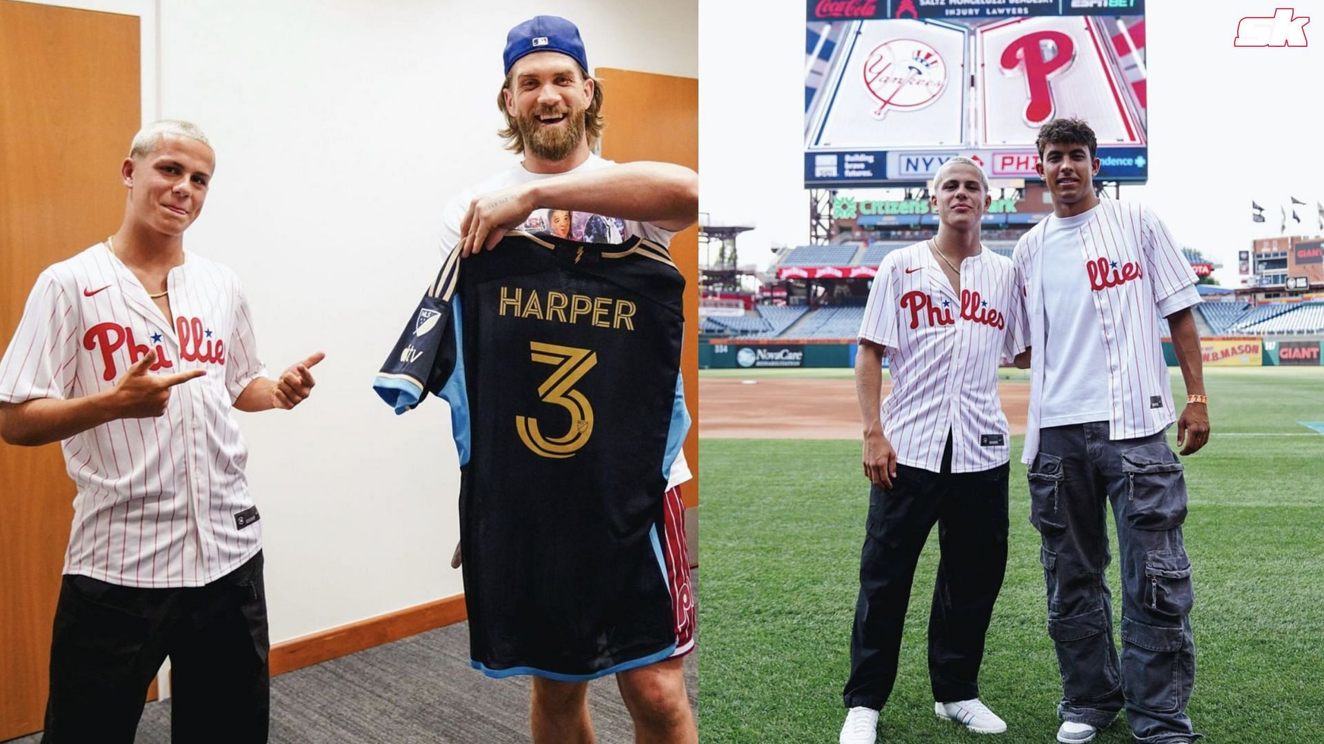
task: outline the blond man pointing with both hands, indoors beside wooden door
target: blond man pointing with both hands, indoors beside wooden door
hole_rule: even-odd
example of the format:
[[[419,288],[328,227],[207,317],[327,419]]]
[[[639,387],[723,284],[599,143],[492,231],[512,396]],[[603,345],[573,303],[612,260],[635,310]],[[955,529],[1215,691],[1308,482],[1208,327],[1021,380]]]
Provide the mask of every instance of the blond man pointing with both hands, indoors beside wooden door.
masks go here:
[[[61,442],[78,488],[45,743],[131,743],[167,657],[176,741],[267,737],[262,527],[232,409],[294,408],[323,355],[267,379],[238,278],[184,250],[214,165],[196,126],[143,127],[119,229],[37,277],[0,361],[0,436]]]

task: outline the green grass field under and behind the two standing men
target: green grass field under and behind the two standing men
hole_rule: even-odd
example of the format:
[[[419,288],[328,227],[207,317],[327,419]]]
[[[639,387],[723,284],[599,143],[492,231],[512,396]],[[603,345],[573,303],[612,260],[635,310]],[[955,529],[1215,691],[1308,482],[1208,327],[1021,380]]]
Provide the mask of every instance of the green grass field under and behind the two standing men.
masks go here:
[[[755,376],[703,375],[730,372]],[[1206,741],[1324,741],[1324,436],[1300,424],[1324,421],[1324,368],[1205,373],[1213,437],[1185,461],[1197,650],[1189,714]],[[1182,400],[1176,371],[1173,380]],[[699,450],[700,737],[835,741],[869,500],[859,443],[702,440]],[[1016,459],[1010,483],[1010,555],[981,698],[1009,727],[989,741],[1051,743],[1061,682],[1045,631],[1039,537],[1027,520],[1025,466]],[[916,571],[879,741],[976,736],[933,716],[925,631],[936,565],[935,530]],[[1116,568],[1113,561],[1115,598]],[[1119,719],[1095,741],[1132,737]]]

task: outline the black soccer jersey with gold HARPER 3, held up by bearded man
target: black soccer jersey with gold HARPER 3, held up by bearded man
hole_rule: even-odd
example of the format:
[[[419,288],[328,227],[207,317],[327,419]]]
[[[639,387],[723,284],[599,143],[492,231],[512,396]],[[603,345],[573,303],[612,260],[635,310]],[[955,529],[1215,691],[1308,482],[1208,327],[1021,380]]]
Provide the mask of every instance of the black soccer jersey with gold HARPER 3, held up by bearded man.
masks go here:
[[[450,404],[474,667],[579,680],[675,647],[659,534],[688,429],[666,249],[510,233],[437,281],[375,388]]]

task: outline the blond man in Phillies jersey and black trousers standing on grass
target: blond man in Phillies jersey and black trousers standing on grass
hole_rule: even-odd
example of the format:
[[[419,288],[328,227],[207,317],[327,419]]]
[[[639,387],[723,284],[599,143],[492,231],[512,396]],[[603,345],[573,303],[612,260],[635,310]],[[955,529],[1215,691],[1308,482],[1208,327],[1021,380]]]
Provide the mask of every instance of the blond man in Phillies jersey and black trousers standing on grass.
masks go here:
[[[859,328],[869,516],[841,744],[873,744],[896,680],[902,625],[920,551],[939,526],[943,557],[928,625],[933,711],[980,733],[1006,723],[978,699],[984,635],[1006,567],[1010,441],[1000,356],[1019,342],[1008,318],[1012,262],[980,244],[988,179],[953,158],[933,176],[937,236],[888,253]],[[892,389],[882,395],[882,360]]]

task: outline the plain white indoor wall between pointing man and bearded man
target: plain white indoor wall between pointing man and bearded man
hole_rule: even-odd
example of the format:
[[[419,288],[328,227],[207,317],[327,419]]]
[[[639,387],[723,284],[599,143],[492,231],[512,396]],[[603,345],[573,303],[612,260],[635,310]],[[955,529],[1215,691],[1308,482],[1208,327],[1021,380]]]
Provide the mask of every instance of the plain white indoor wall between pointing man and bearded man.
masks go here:
[[[144,120],[193,120],[217,152],[185,246],[238,273],[273,375],[327,353],[299,409],[237,414],[271,639],[459,593],[446,405],[396,417],[371,383],[438,267],[441,207],[511,162],[506,32],[561,15],[593,66],[696,77],[696,0],[58,4],[143,17]]]

